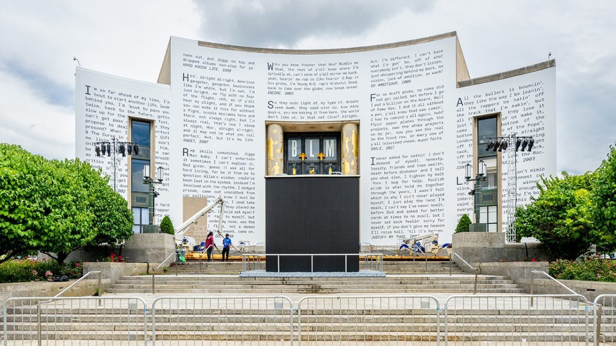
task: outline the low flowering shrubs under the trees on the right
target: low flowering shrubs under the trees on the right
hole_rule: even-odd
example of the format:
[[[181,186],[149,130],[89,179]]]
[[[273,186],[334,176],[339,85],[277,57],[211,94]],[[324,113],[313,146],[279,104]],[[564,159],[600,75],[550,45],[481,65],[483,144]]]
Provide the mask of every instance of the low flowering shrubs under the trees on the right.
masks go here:
[[[580,261],[560,259],[549,264],[549,275],[562,280],[616,282],[616,260],[590,257]]]

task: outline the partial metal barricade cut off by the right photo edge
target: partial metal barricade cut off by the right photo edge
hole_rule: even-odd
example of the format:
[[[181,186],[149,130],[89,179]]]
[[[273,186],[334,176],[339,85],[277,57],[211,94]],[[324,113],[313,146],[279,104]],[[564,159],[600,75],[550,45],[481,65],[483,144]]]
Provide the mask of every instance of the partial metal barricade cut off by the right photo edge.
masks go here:
[[[594,299],[593,341],[595,346],[616,344],[616,294]]]

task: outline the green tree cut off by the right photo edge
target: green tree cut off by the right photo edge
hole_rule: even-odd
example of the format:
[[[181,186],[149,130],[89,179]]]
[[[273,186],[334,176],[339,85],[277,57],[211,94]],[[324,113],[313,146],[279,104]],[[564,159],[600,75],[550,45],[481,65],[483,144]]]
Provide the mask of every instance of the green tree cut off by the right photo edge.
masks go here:
[[[594,220],[601,231],[601,246],[616,248],[616,147],[610,145],[607,159],[596,171],[593,182]],[[599,247],[599,245],[598,245]]]

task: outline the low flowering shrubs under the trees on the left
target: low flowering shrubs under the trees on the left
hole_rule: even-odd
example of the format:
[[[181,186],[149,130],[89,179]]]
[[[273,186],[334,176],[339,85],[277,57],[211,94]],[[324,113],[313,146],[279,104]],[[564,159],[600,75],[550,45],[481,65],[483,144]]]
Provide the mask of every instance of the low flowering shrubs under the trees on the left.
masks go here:
[[[71,280],[81,278],[83,264],[76,260],[62,266],[55,260],[9,260],[0,264],[0,283],[51,281],[62,275]]]

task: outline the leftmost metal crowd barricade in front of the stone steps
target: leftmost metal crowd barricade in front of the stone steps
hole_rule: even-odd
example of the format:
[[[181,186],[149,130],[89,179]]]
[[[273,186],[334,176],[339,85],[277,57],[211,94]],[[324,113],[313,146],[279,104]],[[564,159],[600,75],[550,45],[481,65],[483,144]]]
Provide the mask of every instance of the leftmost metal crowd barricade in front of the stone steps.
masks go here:
[[[4,346],[147,344],[147,308],[138,297],[30,297],[4,302]]]

